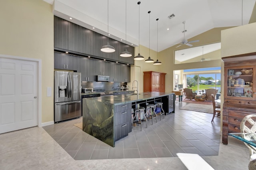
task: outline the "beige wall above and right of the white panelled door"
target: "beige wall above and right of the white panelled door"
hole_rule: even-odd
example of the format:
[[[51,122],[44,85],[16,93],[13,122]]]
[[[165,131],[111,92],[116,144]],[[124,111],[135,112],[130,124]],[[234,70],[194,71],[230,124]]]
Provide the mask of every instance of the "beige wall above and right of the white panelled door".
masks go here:
[[[2,0],[0,54],[42,60],[42,123],[54,120],[52,5],[42,0]],[[52,97],[46,97],[52,87]]]

